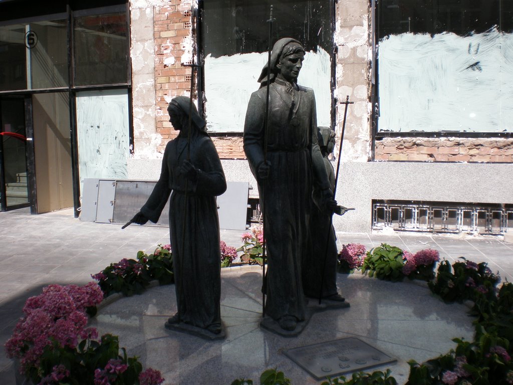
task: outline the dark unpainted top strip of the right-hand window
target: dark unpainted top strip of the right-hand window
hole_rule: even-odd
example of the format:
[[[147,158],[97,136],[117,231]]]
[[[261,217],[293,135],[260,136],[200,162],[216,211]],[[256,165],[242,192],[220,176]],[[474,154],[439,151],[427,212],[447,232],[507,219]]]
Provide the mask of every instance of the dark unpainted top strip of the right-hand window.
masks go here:
[[[380,0],[378,37],[453,32],[461,36],[497,26],[513,31],[513,0]]]

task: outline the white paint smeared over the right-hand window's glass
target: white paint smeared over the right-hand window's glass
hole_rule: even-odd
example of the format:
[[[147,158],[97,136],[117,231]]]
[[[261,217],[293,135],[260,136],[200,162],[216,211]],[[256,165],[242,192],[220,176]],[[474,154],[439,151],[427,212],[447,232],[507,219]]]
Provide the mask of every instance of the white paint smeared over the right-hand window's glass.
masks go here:
[[[379,101],[380,131],[513,131],[513,34],[391,35]]]

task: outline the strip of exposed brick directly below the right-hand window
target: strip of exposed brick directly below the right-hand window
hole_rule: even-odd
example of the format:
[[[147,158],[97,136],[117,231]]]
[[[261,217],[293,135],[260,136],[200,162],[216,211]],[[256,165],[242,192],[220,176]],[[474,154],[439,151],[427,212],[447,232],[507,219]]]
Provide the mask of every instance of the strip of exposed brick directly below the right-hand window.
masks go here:
[[[513,139],[383,138],[378,161],[512,162]]]

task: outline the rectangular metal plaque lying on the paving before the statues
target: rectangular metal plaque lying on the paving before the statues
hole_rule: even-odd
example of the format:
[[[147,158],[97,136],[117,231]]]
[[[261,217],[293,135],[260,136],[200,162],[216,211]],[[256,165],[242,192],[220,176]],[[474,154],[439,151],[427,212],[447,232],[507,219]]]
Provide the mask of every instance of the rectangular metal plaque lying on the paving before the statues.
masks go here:
[[[397,361],[358,338],[343,338],[289,349],[285,355],[318,380]]]

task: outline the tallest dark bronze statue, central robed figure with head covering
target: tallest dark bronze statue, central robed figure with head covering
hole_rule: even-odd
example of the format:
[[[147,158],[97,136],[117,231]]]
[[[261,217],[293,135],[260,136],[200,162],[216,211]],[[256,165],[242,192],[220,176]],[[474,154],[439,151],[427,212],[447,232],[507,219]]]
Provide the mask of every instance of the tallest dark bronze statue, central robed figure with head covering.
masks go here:
[[[265,313],[286,331],[305,319],[302,261],[309,247],[313,185],[326,210],[333,200],[317,139],[313,90],[297,84],[305,57],[300,42],[282,38],[272,48],[269,123],[265,132],[267,65],[251,94],[244,124],[244,151],[258,182],[268,255]]]

